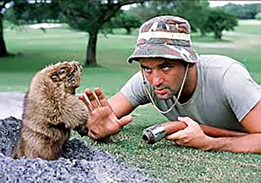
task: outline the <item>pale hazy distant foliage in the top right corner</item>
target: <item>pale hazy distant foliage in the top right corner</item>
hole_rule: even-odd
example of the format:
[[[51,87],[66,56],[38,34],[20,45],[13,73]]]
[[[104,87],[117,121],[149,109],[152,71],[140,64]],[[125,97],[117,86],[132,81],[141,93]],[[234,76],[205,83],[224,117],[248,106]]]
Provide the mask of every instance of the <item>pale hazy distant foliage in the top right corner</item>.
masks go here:
[[[225,12],[235,15],[238,19],[255,19],[255,15],[261,11],[261,3],[243,5],[228,3],[223,8]]]

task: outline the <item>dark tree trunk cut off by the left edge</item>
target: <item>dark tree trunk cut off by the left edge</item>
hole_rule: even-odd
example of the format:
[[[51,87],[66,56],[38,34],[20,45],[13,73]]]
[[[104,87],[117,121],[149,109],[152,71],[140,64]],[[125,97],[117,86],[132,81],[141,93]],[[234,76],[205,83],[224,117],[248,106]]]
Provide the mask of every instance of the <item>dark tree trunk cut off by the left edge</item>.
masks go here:
[[[0,57],[8,56],[7,50],[6,50],[6,44],[4,40],[4,35],[3,35],[3,18],[4,18],[4,13],[7,9],[7,5],[11,2],[9,1],[3,1],[2,4],[0,4]]]

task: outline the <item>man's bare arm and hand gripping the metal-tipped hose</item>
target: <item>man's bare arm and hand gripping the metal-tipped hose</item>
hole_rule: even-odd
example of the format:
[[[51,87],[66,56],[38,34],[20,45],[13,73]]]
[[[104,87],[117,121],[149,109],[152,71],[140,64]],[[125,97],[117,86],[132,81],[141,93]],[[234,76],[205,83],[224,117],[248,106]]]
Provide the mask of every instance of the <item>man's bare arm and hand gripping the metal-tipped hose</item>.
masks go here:
[[[179,145],[185,145],[203,150],[220,150],[244,153],[261,153],[261,101],[243,118],[242,125],[249,135],[239,137],[214,138],[204,134],[202,128],[188,117],[178,120],[188,127],[184,130],[166,136],[167,140],[175,140]]]

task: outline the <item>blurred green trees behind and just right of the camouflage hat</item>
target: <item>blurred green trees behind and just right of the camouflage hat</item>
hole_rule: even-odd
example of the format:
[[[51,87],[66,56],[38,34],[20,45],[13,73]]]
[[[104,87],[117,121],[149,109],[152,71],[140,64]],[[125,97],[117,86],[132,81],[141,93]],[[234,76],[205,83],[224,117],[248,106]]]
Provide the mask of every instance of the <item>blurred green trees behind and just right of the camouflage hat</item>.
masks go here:
[[[136,20],[136,24],[133,24],[131,28],[138,28],[142,22],[159,15],[173,15],[185,18],[189,21],[192,31],[199,31],[202,36],[206,36],[208,32],[214,32],[216,39],[222,38],[223,30],[234,30],[234,26],[237,26],[237,19],[233,14],[226,13],[220,7],[210,8],[207,0],[145,2],[124,11],[121,16],[126,17],[126,19],[118,16],[113,18],[111,22],[114,23],[119,18],[120,21],[128,24],[127,21],[132,19]],[[121,24],[116,23],[116,25]],[[127,32],[130,33],[129,30]]]

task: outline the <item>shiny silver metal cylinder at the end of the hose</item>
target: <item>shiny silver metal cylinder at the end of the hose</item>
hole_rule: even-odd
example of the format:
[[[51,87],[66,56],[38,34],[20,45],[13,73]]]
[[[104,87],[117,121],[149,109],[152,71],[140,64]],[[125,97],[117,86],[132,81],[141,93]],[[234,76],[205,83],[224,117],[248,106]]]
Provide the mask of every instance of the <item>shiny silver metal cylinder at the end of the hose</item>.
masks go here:
[[[156,124],[143,130],[142,139],[148,144],[154,144],[166,136],[164,125]]]

